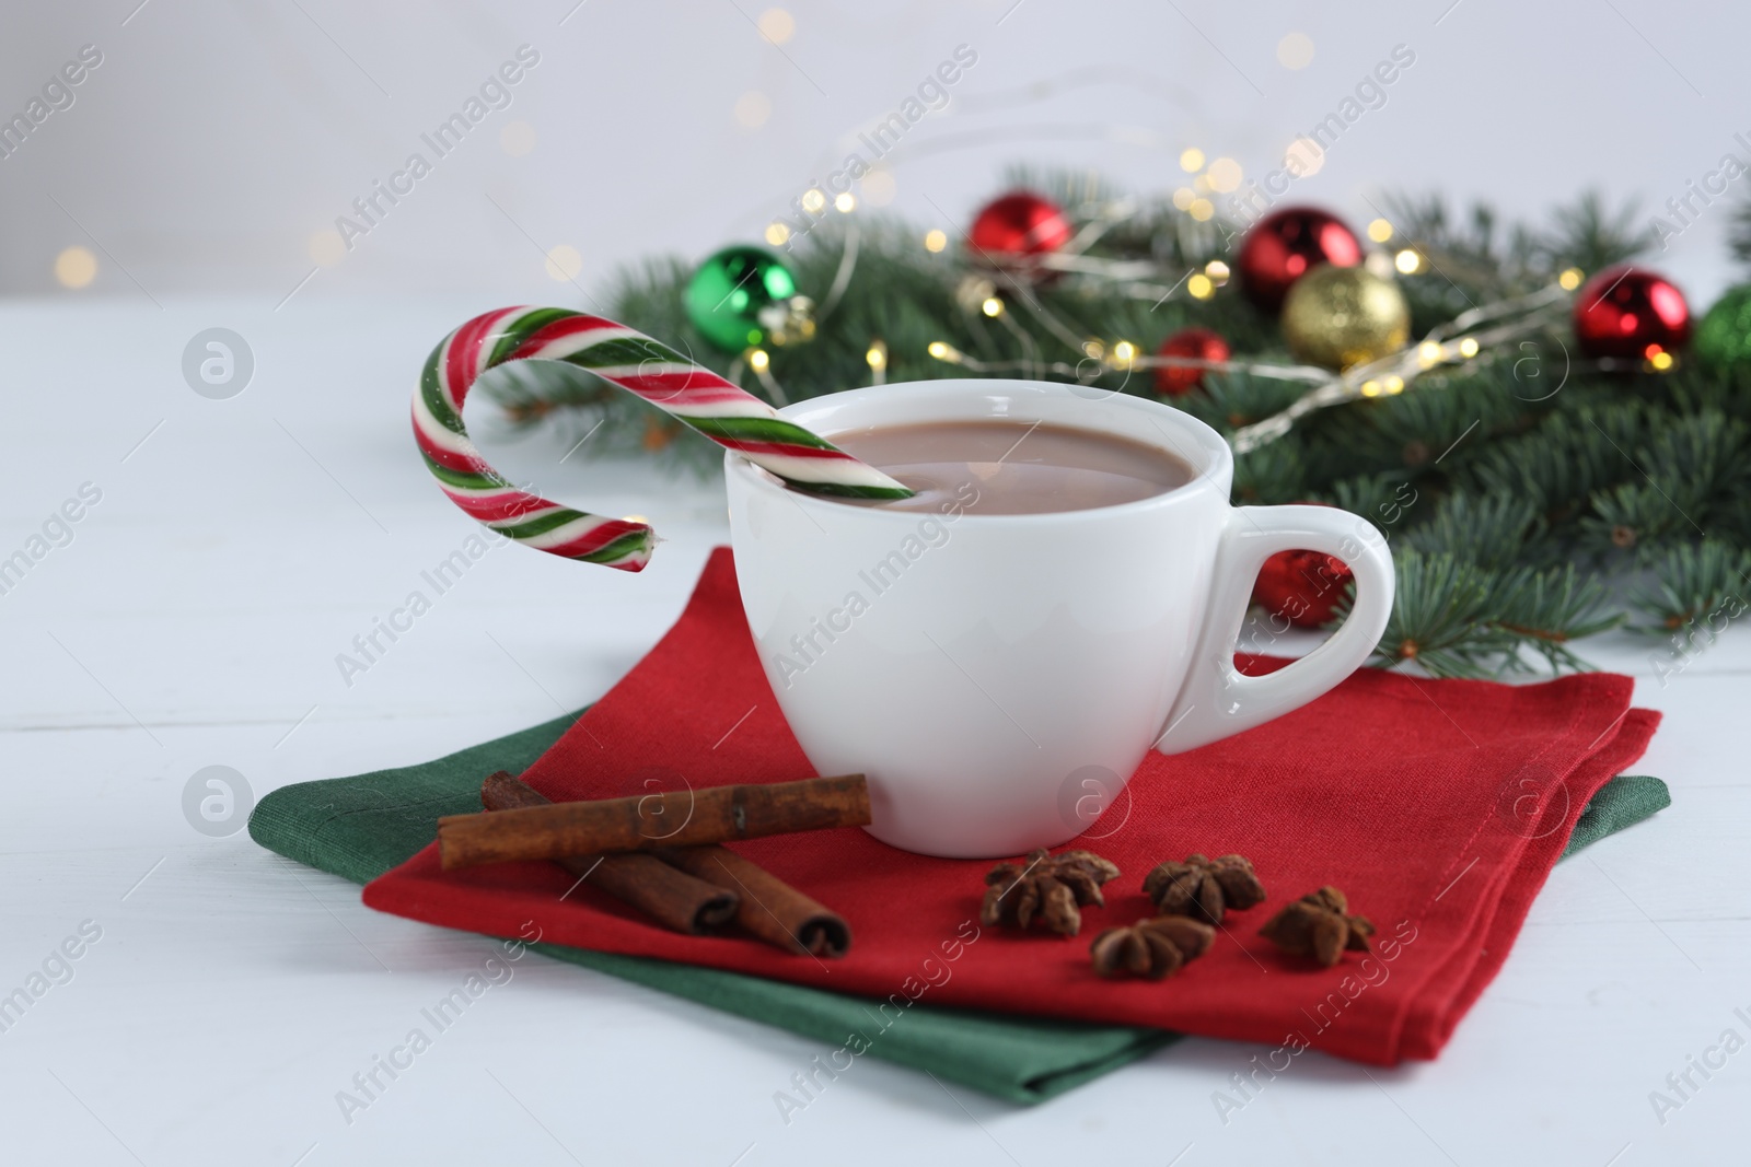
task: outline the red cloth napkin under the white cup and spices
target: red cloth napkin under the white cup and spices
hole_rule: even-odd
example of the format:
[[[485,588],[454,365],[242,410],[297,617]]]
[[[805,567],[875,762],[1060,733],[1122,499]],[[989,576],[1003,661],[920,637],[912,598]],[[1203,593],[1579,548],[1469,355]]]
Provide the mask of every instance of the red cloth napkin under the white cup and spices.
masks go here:
[[[1131,798],[1070,843],[1122,871],[1075,940],[981,929],[991,863],[914,856],[860,829],[737,843],[851,922],[842,961],[664,931],[587,880],[573,887],[557,864],[445,873],[436,845],[364,901],[492,936],[529,936],[532,922],[562,945],[861,994],[884,1003],[872,1003],[874,1025],[926,1001],[1262,1041],[1285,1046],[1276,1067],[1304,1046],[1382,1066],[1432,1059],[1508,959],[1588,800],[1646,749],[1658,716],[1630,709],[1630,689],[1604,674],[1504,686],[1364,668],[1266,726],[1150,754]],[[679,623],[524,779],[555,800],[602,798],[637,793],[637,775],[660,768],[695,787],[814,773],[760,670],[728,549]],[[1143,875],[1191,852],[1248,856],[1269,899],[1229,913],[1215,947],[1166,982],[1094,976],[1091,936],[1152,915]],[[1375,957],[1319,969],[1257,934],[1324,884],[1378,926]]]

